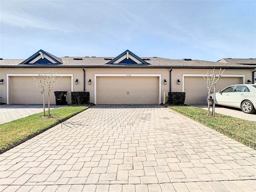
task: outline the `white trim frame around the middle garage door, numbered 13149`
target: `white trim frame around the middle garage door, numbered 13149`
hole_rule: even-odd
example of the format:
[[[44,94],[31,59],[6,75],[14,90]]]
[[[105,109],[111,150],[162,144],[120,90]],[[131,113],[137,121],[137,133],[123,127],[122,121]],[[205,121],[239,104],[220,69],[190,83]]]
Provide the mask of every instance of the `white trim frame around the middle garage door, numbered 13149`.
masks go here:
[[[161,74],[94,74],[94,102],[96,103],[97,77],[159,77],[159,104],[161,103]]]

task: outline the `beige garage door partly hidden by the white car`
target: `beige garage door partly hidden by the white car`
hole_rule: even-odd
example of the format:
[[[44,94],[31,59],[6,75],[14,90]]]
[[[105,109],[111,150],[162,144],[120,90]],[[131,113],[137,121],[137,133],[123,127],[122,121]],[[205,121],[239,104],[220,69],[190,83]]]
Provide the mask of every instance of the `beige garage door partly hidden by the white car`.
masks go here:
[[[230,85],[242,83],[241,77],[221,77],[216,84],[216,92]],[[206,103],[208,88],[203,77],[184,77],[184,92],[186,92],[186,104]]]

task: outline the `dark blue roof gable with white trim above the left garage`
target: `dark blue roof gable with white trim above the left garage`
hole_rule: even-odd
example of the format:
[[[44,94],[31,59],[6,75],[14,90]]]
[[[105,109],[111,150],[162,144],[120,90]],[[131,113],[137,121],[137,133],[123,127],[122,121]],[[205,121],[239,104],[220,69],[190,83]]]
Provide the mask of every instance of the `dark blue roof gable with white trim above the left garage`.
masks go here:
[[[42,49],[38,52],[21,62],[20,64],[41,64],[41,65],[48,65],[48,64],[63,64],[62,60]]]

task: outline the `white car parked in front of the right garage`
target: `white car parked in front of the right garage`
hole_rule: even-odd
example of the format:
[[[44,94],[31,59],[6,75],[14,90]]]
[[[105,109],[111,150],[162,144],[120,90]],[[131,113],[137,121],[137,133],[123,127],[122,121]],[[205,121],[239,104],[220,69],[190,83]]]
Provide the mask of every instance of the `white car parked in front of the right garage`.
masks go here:
[[[214,94],[210,94],[210,105],[213,97]],[[229,86],[215,93],[215,104],[241,108],[242,112],[252,114],[256,111],[256,84]]]

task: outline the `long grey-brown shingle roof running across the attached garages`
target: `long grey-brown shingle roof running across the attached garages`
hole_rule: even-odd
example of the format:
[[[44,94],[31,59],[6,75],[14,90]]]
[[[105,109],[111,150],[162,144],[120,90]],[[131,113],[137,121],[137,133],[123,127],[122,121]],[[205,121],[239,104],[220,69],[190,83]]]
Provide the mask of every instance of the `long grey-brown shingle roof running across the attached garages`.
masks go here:
[[[74,60],[74,58],[82,58],[82,60]],[[3,59],[0,60],[0,68],[35,68],[35,67],[60,67],[60,68],[241,68],[241,69],[253,69],[255,66],[242,65],[236,63],[226,62],[212,62],[203,60],[173,60],[168,58],[159,57],[147,57],[150,60],[146,60],[149,65],[138,64],[138,65],[118,65],[118,64],[106,64],[109,60],[104,58],[114,57],[60,57],[63,64],[20,64],[24,59]],[[144,57],[142,57],[143,59]]]

